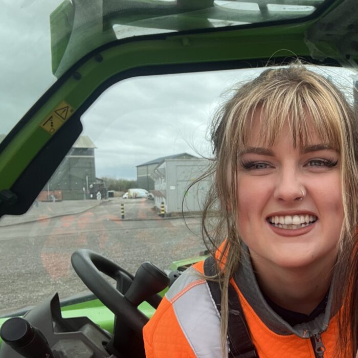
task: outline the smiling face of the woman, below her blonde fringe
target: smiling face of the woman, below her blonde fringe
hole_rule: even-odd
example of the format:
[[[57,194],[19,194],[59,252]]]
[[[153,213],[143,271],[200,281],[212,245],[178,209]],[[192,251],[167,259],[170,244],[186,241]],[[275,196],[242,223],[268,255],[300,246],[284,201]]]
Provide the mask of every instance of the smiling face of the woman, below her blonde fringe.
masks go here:
[[[259,117],[254,113],[238,158],[240,237],[261,267],[333,262],[344,217],[339,153],[312,134],[305,148],[294,148],[287,124],[272,147],[262,148]]]

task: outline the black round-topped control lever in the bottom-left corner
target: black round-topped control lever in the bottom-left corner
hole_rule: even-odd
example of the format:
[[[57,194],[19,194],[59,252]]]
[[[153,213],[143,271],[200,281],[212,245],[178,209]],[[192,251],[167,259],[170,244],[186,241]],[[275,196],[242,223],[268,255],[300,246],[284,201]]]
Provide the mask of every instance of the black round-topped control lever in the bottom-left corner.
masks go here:
[[[24,318],[7,320],[0,329],[0,337],[25,358],[54,358],[44,335]]]

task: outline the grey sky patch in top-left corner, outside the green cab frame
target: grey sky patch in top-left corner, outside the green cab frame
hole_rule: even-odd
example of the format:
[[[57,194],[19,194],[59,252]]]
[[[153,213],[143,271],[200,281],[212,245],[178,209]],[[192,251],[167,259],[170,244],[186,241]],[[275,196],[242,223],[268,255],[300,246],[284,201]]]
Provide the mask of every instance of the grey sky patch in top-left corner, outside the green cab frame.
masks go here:
[[[0,13],[2,103],[0,132],[7,133],[55,82],[51,73],[49,14],[61,0],[3,1]]]

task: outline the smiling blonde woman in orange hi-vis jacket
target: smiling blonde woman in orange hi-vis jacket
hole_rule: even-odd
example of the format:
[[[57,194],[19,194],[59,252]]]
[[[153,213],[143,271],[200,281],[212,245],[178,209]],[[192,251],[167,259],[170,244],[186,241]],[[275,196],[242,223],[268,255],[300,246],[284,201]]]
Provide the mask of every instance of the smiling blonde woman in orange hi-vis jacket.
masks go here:
[[[236,91],[213,124],[215,181],[203,214],[217,275],[198,263],[172,285],[144,328],[147,357],[235,356],[232,313],[243,313],[255,347],[236,356],[353,356],[356,343],[339,341],[338,327],[356,329],[341,307],[342,257],[357,226],[357,131],[340,91],[301,64]],[[228,303],[233,289],[241,313]]]

